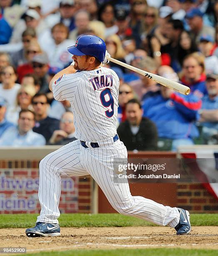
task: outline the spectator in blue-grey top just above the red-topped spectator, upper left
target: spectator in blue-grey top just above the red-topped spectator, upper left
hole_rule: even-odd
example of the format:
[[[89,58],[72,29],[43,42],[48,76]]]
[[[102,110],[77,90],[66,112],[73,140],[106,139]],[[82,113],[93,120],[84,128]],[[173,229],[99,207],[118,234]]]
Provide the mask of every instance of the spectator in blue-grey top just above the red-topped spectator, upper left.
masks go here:
[[[36,32],[34,28],[27,28],[22,33],[22,43],[23,43],[22,49],[20,49],[19,51],[15,51],[11,54],[11,60],[15,68],[28,62],[27,48],[30,45],[30,41],[33,38],[36,39]]]

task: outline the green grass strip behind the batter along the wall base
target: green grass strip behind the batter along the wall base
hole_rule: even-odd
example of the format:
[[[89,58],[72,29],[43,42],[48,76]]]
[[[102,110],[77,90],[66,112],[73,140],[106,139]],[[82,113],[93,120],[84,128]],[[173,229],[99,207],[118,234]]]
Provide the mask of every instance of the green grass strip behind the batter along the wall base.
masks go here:
[[[1,214],[0,228],[28,228],[35,224],[37,214]],[[61,214],[61,227],[133,227],[154,224],[117,213],[114,214]],[[216,226],[218,214],[191,214],[193,226]]]

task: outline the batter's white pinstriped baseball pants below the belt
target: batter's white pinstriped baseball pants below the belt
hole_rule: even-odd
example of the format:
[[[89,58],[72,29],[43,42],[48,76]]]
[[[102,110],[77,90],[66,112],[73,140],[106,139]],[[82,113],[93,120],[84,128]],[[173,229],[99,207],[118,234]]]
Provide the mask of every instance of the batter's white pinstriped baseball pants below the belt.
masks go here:
[[[84,148],[77,140],[45,156],[40,161],[39,201],[42,209],[37,222],[58,223],[61,175],[90,174],[119,213],[174,228],[180,220],[176,207],[132,196],[128,183],[114,182],[113,159],[118,158],[127,159],[126,147],[120,140],[100,148]]]

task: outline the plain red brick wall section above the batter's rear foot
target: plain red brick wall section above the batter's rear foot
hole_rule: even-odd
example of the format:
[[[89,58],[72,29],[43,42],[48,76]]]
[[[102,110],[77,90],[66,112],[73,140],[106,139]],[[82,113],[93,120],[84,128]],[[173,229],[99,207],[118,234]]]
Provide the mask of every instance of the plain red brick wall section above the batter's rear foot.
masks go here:
[[[177,202],[178,207],[190,212],[218,212],[218,200],[201,184],[178,184]]]

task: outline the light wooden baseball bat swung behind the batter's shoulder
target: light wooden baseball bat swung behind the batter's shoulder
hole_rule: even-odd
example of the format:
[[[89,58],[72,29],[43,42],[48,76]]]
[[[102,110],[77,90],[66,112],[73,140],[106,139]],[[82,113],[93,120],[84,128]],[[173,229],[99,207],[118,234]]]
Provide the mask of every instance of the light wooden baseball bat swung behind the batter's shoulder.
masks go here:
[[[117,59],[113,59],[111,57],[107,57],[107,59],[111,62],[114,62],[114,63],[120,65],[120,66],[131,69],[131,70],[137,72],[138,74],[141,74],[145,77],[148,77],[148,78],[154,80],[155,82],[158,82],[158,84],[162,84],[163,86],[168,87],[170,89],[173,89],[176,92],[179,92],[179,93],[184,94],[184,95],[188,95],[190,93],[190,88],[188,86],[185,86],[185,85],[180,84],[178,82],[172,81],[172,80],[167,79],[165,77],[160,77],[156,74],[144,71],[142,69],[138,69],[138,68],[133,67],[131,65],[128,65],[128,64],[126,64],[122,61],[118,61]]]

